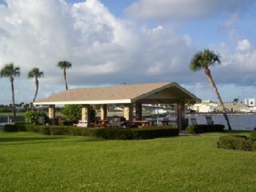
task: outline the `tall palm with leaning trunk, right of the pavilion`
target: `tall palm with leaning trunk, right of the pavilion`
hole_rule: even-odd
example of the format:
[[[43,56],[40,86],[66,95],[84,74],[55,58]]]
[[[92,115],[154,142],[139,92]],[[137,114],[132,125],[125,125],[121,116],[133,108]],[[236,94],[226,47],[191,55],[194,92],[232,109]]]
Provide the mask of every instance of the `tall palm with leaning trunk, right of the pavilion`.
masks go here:
[[[227,115],[225,107],[224,107],[224,104],[222,102],[222,99],[220,97],[218,89],[217,89],[215,82],[213,80],[213,77],[211,75],[211,70],[209,69],[209,67],[215,66],[216,64],[220,65],[220,63],[221,62],[220,62],[219,54],[216,54],[214,51],[210,51],[209,49],[205,49],[203,52],[199,51],[196,54],[194,54],[194,56],[192,57],[192,59],[190,61],[190,69],[193,71],[197,71],[197,70],[201,70],[201,69],[204,70],[204,73],[206,74],[210,84],[213,86],[213,88],[215,90],[219,104],[222,107],[222,112],[223,112],[224,118],[227,121],[228,128],[229,128],[229,130],[232,130],[230,123],[229,123],[228,115]]]

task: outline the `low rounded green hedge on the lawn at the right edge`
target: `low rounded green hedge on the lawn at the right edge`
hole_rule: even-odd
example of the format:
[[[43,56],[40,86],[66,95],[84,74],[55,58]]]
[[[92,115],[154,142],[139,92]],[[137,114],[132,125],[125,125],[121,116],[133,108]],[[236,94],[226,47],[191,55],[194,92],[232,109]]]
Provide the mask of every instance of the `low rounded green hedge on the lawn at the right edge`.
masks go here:
[[[219,138],[217,146],[224,149],[256,151],[256,140],[241,135],[227,135]]]

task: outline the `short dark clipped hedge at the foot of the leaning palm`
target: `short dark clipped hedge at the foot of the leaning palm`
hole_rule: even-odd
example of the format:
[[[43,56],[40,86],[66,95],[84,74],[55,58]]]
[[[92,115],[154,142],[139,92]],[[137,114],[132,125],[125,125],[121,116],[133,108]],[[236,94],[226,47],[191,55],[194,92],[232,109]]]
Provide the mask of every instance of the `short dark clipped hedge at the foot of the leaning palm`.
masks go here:
[[[187,133],[199,134],[199,133],[208,133],[208,132],[222,132],[225,128],[223,124],[198,124],[198,125],[189,125],[186,128]]]

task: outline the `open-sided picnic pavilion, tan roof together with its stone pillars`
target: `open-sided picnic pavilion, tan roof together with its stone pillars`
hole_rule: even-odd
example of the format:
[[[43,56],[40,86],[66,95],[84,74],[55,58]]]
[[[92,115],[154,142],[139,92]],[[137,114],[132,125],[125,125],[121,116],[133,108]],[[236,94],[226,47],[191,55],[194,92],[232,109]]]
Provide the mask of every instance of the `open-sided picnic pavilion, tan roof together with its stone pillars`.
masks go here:
[[[89,105],[100,105],[100,119],[107,119],[107,105],[123,104],[124,118],[133,122],[133,109],[136,120],[142,119],[142,104],[176,104],[177,126],[185,127],[185,104],[200,101],[194,94],[176,82],[120,85],[113,87],[75,88],[40,99],[34,105],[49,105],[49,118],[55,119],[55,105],[82,105],[82,121],[90,125]]]

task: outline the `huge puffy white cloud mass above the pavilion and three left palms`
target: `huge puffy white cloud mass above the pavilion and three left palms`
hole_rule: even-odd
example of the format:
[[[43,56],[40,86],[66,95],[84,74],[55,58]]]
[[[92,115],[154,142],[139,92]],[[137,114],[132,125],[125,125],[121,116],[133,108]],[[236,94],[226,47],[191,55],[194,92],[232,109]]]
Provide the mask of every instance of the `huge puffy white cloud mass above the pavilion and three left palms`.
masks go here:
[[[7,0],[0,6],[0,42],[0,68],[10,61],[21,67],[17,89],[32,67],[44,71],[39,98],[64,85],[59,60],[73,64],[67,71],[69,87],[166,81],[180,70],[180,62],[187,62],[193,46],[188,35],[170,34],[163,25],[138,31],[99,0]],[[34,94],[33,82],[29,91]]]

